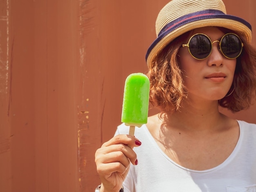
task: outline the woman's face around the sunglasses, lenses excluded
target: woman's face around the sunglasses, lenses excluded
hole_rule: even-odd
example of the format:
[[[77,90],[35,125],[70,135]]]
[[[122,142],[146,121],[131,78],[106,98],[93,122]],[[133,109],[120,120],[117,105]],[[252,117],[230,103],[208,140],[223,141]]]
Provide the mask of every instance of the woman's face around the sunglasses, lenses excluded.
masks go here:
[[[217,27],[195,29],[191,36],[195,33],[204,33],[211,42],[220,40],[225,35]],[[189,38],[183,43],[187,44]],[[223,56],[219,50],[219,42],[213,43],[211,54],[203,60],[193,58],[188,47],[181,47],[178,55],[190,99],[219,100],[225,97],[233,82],[236,59]]]

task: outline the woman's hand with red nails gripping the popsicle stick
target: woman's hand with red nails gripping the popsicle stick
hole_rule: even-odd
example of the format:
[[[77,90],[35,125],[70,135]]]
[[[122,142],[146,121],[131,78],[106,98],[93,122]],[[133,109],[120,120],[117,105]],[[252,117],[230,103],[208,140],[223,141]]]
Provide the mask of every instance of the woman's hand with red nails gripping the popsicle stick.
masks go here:
[[[119,192],[128,174],[130,162],[138,164],[132,148],[140,145],[137,138],[123,134],[113,137],[96,151],[95,163],[101,179],[101,192]]]

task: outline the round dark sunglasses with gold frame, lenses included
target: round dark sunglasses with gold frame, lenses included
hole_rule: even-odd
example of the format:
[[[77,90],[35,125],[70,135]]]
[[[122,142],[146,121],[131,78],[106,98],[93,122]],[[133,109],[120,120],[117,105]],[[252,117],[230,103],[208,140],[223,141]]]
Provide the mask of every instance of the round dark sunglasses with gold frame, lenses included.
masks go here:
[[[229,59],[235,59],[240,56],[244,46],[241,39],[235,33],[227,33],[220,41],[216,40],[213,42],[211,42],[211,39],[207,35],[196,33],[182,47],[188,47],[189,53],[193,58],[202,60],[211,54],[212,44],[214,42],[219,42],[220,52]]]

